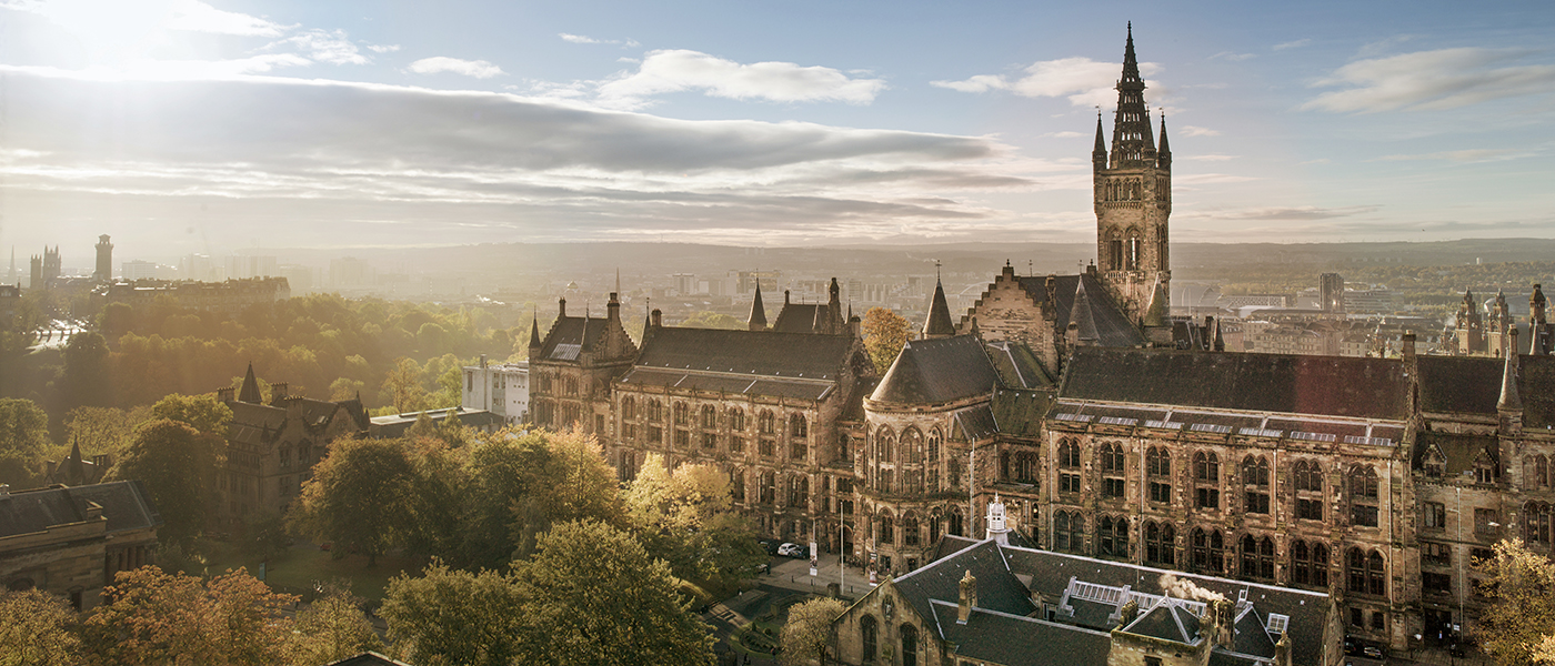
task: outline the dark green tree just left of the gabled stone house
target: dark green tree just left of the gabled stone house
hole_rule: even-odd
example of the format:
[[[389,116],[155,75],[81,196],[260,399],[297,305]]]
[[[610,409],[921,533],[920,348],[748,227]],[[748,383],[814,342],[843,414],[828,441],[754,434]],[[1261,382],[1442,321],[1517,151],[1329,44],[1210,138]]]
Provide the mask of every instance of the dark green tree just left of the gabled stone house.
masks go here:
[[[187,546],[205,525],[219,446],[219,438],[201,435],[188,424],[152,419],[135,428],[124,460],[106,480],[145,483],[162,512],[160,537]]]

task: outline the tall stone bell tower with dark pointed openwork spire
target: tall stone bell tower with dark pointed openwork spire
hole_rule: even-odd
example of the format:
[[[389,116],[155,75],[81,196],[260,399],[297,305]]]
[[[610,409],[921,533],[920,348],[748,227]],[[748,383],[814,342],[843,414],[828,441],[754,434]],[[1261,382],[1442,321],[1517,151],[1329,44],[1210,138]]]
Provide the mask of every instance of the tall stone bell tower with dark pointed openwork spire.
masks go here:
[[[1144,81],[1134,57],[1134,25],[1123,50],[1118,109],[1113,112],[1112,151],[1107,151],[1101,115],[1092,152],[1096,203],[1096,264],[1102,283],[1124,314],[1143,323],[1160,290],[1171,293],[1171,258],[1166,219],[1171,216],[1171,149],[1166,120],[1155,146],[1144,106]]]

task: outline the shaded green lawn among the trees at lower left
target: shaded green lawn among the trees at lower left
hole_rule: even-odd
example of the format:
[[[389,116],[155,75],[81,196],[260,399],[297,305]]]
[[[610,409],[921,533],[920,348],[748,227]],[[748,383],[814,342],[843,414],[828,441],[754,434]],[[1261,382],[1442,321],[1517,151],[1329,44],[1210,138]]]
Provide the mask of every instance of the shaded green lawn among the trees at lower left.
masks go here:
[[[426,560],[421,557],[381,556],[378,564],[367,567],[367,556],[348,554],[342,559],[331,559],[328,551],[320,551],[309,545],[288,548],[277,557],[271,557],[266,568],[266,582],[286,591],[308,590],[314,582],[330,582],[345,579],[351,582],[351,593],[373,601],[383,601],[384,587],[389,579],[406,571],[412,576],[421,573]],[[244,557],[232,548],[218,543],[216,553],[210,556],[207,571],[219,576],[229,568],[247,567],[249,574],[260,574],[260,559]]]

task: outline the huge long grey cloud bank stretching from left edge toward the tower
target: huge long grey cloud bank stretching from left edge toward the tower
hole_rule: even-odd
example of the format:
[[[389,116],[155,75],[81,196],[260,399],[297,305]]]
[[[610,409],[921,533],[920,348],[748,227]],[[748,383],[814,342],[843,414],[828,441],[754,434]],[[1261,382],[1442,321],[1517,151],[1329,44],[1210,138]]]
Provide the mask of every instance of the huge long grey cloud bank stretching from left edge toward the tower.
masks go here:
[[[753,228],[768,242],[821,242],[922,225],[966,236],[1019,217],[969,193],[1088,174],[983,137],[684,121],[493,92],[30,67],[0,76],[16,138],[0,155],[6,216],[36,228],[68,202],[84,211],[73,219],[143,219],[142,234],[182,238],[199,202],[230,211],[211,225],[225,234],[218,244],[243,242],[257,224],[320,245],[655,233],[750,242]],[[126,93],[142,101],[137,113],[114,104]]]

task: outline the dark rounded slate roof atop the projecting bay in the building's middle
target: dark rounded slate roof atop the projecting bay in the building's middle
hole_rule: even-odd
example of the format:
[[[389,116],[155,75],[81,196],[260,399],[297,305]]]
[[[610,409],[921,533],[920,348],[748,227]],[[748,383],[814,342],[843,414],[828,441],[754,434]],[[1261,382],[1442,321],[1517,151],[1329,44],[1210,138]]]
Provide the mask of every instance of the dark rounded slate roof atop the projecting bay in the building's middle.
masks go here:
[[[977,335],[908,340],[869,399],[933,405],[989,394],[998,383],[998,371]]]

